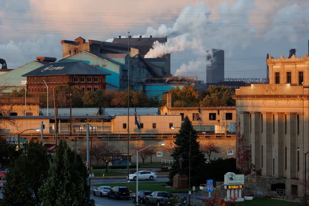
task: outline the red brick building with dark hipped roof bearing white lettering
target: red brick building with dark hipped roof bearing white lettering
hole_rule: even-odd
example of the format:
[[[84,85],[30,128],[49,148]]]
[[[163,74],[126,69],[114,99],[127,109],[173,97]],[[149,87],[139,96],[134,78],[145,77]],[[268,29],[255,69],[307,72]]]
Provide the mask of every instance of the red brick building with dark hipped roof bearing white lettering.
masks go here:
[[[54,62],[22,75],[27,77],[29,94],[44,94],[57,86],[74,86],[81,91],[105,90],[105,76],[110,75],[82,61]],[[45,84],[46,82],[46,84]]]

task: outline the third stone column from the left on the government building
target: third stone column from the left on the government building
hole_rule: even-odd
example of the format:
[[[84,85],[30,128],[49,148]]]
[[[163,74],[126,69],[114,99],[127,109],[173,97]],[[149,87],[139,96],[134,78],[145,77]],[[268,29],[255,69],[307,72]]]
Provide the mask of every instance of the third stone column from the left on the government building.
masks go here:
[[[265,117],[264,117],[265,116]],[[273,138],[273,121],[272,113],[266,112],[263,115],[263,134],[262,134],[262,145],[263,145],[263,176],[272,176],[272,138]]]

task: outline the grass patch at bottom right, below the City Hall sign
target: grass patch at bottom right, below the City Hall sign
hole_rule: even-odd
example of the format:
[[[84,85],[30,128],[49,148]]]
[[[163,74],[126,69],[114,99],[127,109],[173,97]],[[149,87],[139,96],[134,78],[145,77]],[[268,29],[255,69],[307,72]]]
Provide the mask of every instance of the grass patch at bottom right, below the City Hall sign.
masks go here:
[[[273,200],[270,198],[257,198],[252,201],[237,203],[238,206],[297,206],[299,203],[286,202],[283,200]]]

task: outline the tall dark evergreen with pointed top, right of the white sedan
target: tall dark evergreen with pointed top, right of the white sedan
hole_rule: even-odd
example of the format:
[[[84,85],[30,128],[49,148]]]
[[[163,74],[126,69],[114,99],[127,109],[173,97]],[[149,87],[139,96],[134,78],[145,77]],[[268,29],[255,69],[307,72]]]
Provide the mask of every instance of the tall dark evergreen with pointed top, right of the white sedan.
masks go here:
[[[191,142],[190,140],[191,135]],[[201,168],[205,164],[204,154],[200,152],[200,143],[196,141],[197,134],[189,118],[186,116],[181,124],[179,133],[176,135],[175,148],[172,157],[176,160],[170,171],[170,181],[177,174],[186,174],[189,177],[189,148],[191,147],[191,185],[200,183]],[[181,160],[181,165],[180,165]],[[180,168],[181,166],[181,168]]]

